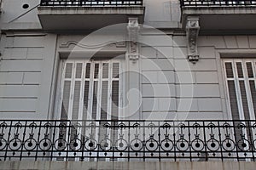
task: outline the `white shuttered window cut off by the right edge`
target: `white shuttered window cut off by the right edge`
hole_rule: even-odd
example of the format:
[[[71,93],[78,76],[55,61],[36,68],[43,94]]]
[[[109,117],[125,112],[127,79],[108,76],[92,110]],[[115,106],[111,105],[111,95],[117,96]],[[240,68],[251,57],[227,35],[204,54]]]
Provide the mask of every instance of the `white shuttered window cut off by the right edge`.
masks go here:
[[[224,59],[224,71],[232,119],[254,120],[256,60]]]

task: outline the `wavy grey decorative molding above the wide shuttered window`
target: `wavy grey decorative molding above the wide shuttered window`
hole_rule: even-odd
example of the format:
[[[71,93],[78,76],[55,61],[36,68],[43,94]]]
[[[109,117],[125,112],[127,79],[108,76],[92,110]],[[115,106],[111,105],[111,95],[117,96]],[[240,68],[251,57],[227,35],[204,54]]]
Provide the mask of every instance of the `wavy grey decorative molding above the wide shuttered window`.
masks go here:
[[[125,48],[125,46],[126,46],[125,41],[122,41],[122,42],[108,41],[108,42],[103,42],[103,43],[100,43],[97,45],[86,45],[86,44],[76,42],[76,41],[68,41],[68,42],[61,43],[60,48],[69,48],[71,45],[78,46],[79,48],[103,48],[106,46],[112,46],[113,44],[117,48]]]

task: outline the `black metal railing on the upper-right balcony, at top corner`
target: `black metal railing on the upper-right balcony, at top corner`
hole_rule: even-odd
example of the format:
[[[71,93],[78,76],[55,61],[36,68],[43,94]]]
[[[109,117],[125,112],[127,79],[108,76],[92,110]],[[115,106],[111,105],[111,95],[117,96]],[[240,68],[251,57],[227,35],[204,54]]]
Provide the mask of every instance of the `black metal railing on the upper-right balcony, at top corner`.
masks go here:
[[[255,0],[180,0],[181,7],[256,7]]]

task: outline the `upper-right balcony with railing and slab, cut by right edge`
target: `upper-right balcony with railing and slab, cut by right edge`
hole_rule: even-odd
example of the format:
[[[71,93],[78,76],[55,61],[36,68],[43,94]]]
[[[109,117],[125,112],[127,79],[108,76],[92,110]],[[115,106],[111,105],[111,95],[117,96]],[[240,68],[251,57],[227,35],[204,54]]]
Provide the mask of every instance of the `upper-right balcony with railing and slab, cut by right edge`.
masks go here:
[[[256,1],[180,0],[183,28],[189,17],[199,17],[201,34],[256,33]]]

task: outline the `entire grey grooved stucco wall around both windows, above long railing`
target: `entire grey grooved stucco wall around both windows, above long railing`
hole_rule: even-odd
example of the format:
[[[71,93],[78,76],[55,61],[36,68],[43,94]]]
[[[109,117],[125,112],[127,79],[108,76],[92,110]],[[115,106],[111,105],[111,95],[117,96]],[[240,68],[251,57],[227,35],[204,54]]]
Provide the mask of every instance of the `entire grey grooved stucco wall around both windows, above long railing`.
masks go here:
[[[0,66],[2,117],[51,118],[54,114],[59,54],[72,51],[74,46],[60,47],[67,42],[79,42],[83,37],[85,35],[62,36],[56,45],[57,36],[54,34],[16,32],[3,36]],[[115,39],[116,35],[90,38],[97,45]],[[119,35],[119,38],[125,37]],[[173,119],[175,116],[188,119],[230,118],[226,108],[221,57],[224,54],[230,54],[230,57],[238,54],[241,57],[243,54],[254,56],[255,36],[199,37],[200,59],[196,64],[187,59],[185,36],[155,35],[151,32],[142,34],[139,41],[143,44],[137,64],[125,59],[130,65],[126,69],[135,69],[141,74],[141,77],[131,78],[131,81],[137,82],[142,94],[141,98],[133,98],[142,100],[140,116],[131,116],[131,119]],[[91,49],[79,47],[75,50],[88,52]],[[104,50],[125,53],[126,48],[110,45]],[[137,108],[137,103],[134,102],[131,107]]]

